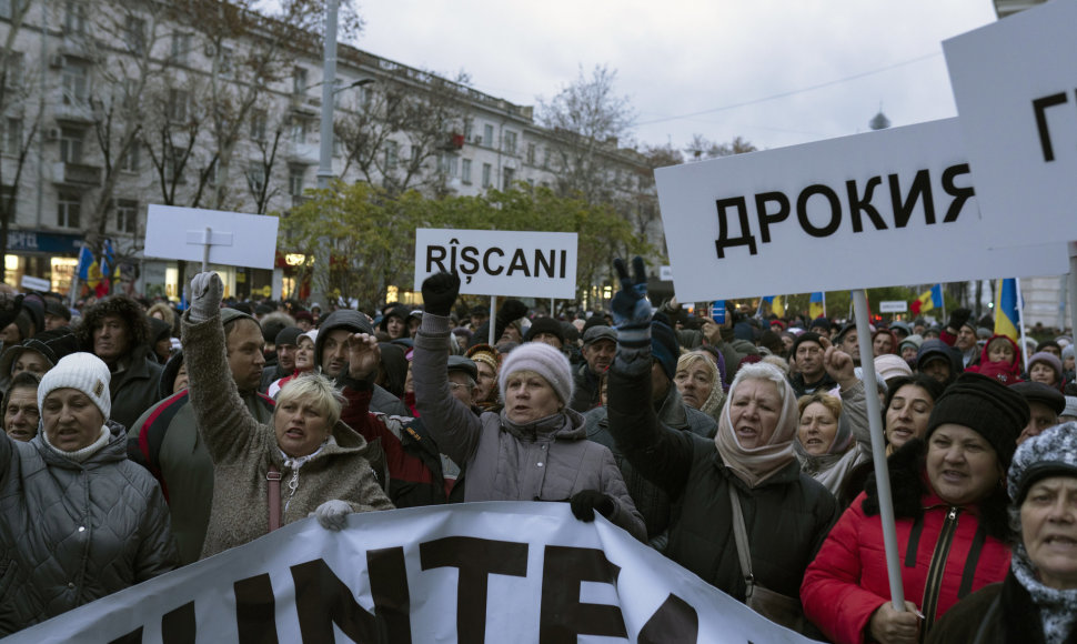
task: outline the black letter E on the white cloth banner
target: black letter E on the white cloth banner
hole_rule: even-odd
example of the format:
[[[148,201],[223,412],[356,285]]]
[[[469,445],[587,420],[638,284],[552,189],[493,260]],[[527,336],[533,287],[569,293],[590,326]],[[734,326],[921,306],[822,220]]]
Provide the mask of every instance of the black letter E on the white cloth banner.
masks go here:
[[[601,550],[547,545],[542,564],[540,644],[575,644],[578,635],[627,637],[621,606],[583,604],[582,582],[617,584],[621,568]]]

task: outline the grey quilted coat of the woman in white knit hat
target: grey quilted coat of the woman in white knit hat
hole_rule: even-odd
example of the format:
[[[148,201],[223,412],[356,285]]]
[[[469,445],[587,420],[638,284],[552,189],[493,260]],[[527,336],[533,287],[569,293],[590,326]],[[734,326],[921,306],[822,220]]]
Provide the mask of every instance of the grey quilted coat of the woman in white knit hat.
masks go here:
[[[161,489],[109,429],[82,463],[0,436],[0,636],[175,567]]]

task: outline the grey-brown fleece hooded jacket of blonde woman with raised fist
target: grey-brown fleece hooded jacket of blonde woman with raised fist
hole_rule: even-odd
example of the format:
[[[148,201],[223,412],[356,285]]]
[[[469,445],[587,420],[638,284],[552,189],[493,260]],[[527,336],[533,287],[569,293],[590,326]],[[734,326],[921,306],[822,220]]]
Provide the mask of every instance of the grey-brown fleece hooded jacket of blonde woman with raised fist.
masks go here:
[[[271,464],[281,473],[281,524],[306,519],[326,501],[346,501],[353,512],[391,510],[359,433],[336,423],[329,441],[300,466],[286,465],[272,424],[258,422],[240,399],[224,356],[220,316],[192,323],[183,314],[183,349],[191,374],[191,406],[213,460],[213,503],[202,545],[205,559],[269,532]],[[321,334],[319,334],[321,336]]]

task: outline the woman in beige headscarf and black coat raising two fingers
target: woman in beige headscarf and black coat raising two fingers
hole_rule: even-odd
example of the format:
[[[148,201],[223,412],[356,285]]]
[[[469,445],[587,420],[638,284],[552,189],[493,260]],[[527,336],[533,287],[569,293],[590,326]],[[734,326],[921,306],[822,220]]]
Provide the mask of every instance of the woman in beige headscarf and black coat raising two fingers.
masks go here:
[[[665,554],[742,602],[754,580],[754,587],[785,595],[798,613],[801,578],[837,517],[837,506],[822,484],[801,472],[794,455],[793,389],[776,366],[745,364],[729,388],[713,440],[660,423],[650,402],[646,274],[642,260],[635,264],[634,281],[620,260],[616,264],[622,290],[613,301],[617,354],[608,372],[607,411],[621,453],[674,504]],[[746,533],[743,553],[734,527],[738,516]],[[742,567],[741,554],[751,571]]]

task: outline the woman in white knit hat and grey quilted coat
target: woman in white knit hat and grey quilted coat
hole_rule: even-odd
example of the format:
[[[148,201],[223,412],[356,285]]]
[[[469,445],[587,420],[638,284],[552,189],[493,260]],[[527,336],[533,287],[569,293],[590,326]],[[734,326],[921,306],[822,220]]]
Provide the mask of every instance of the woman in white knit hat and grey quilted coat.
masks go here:
[[[175,567],[164,496],[109,420],[109,378],[92,354],[63,358],[38,388],[41,432],[0,436],[0,636]]]

